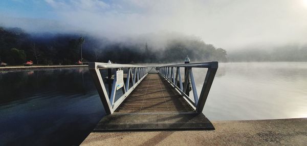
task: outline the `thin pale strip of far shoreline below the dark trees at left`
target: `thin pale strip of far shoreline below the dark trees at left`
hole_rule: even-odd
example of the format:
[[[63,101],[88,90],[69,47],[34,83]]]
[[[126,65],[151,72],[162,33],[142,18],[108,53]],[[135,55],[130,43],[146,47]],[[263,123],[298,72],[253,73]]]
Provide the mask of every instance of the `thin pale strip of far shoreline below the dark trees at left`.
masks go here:
[[[0,67],[0,71],[28,71],[39,69],[66,69],[66,68],[81,68],[88,67],[87,65],[71,65],[71,66],[16,66],[16,67]]]

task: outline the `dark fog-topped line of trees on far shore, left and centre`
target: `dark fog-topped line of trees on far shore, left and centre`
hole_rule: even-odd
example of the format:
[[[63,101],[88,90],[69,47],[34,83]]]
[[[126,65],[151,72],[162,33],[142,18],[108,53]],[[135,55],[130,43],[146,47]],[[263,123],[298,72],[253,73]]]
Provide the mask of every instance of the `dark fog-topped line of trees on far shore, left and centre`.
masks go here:
[[[144,43],[110,41],[80,34],[28,34],[20,28],[0,27],[0,61],[21,65],[73,65],[83,61],[120,64],[182,62],[186,55],[198,61],[227,61],[226,50],[200,39],[171,39],[164,48]]]

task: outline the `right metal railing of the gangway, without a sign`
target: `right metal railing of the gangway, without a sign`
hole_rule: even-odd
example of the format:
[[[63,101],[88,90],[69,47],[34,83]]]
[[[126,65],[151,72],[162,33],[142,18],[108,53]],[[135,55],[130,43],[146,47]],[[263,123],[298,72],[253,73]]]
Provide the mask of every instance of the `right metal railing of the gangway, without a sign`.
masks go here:
[[[176,69],[176,71],[174,71],[174,68]],[[184,84],[182,81],[180,68],[185,68]],[[200,96],[198,96],[198,92],[196,90],[192,68],[208,68]],[[184,97],[184,99],[189,103],[189,105],[193,107],[196,113],[201,113],[204,109],[217,68],[217,61],[200,62],[194,64],[162,66],[159,69],[159,73],[169,82],[172,87],[177,89],[177,91]],[[187,91],[189,83],[192,86],[194,101],[192,101],[191,98],[187,95],[187,93],[189,92]]]

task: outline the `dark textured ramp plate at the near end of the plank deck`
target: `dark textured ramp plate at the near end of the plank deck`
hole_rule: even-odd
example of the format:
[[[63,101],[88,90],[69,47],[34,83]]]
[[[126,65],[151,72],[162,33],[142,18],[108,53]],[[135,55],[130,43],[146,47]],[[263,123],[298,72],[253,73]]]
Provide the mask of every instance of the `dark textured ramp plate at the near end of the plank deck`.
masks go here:
[[[94,132],[214,130],[204,114],[113,114],[104,116]]]

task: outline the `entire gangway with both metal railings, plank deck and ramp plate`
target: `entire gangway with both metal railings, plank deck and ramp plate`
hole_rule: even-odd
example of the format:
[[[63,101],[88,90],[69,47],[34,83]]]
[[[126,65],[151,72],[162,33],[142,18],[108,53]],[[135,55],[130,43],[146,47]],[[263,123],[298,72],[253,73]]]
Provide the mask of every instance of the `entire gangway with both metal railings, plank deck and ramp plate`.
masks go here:
[[[214,130],[202,111],[217,67],[218,62],[151,69],[90,62],[89,70],[106,112],[94,131]],[[181,77],[180,68],[185,69],[184,78]],[[207,68],[200,96],[196,91],[192,68]],[[107,70],[108,78],[105,80],[100,71],[103,69]],[[187,84],[183,84],[183,80]],[[192,87],[194,99],[186,94],[189,86]]]

